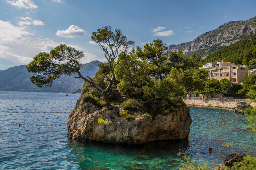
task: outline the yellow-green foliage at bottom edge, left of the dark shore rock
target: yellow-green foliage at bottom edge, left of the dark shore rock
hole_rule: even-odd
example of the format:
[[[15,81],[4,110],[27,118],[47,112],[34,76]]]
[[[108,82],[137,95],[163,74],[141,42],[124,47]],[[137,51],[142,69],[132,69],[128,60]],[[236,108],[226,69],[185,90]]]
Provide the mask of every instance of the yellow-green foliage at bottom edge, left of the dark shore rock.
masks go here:
[[[195,161],[190,160],[190,158],[185,154],[179,152],[178,155],[182,155],[183,159],[181,164],[183,167],[180,167],[179,170],[209,170],[210,168],[207,165],[202,166],[201,164],[196,165]]]

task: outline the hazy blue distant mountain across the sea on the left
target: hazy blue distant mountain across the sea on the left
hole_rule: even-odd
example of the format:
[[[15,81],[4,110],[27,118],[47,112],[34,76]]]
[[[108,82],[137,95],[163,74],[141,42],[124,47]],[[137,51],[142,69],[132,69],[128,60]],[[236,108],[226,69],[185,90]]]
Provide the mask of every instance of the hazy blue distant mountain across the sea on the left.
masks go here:
[[[91,63],[83,64],[80,70],[83,76],[93,77],[98,71],[100,61],[92,61]],[[28,73],[27,65],[14,66],[6,70],[0,71],[0,90],[6,91],[29,91],[29,92],[57,92],[57,93],[72,93],[82,88],[84,80],[74,78],[76,75],[62,75],[57,80],[54,80],[51,88],[38,88],[29,77],[32,73]]]

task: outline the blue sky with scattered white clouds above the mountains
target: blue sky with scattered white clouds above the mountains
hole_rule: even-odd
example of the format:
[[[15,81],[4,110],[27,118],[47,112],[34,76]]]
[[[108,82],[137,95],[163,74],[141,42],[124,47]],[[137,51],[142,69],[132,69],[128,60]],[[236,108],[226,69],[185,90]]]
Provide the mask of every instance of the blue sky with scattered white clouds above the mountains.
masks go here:
[[[135,46],[192,41],[228,21],[256,16],[256,0],[0,0],[0,70],[28,64],[60,44],[83,51],[82,64],[103,61],[91,40],[104,26]]]

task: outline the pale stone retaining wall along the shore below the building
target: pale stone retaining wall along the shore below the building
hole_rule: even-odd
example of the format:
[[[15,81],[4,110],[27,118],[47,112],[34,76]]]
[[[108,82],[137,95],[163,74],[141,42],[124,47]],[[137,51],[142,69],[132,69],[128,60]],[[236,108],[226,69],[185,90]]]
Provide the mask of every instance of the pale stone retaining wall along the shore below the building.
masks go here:
[[[184,99],[184,102],[188,106],[219,107],[219,108],[227,108],[227,109],[236,108],[236,102],[212,101],[212,100],[188,100],[188,99]],[[251,106],[256,106],[256,103],[253,102]]]

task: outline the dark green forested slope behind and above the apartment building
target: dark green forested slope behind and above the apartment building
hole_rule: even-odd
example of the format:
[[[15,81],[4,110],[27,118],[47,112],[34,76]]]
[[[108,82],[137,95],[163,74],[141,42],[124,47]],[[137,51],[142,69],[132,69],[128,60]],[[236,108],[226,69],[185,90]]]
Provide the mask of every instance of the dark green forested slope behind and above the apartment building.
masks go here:
[[[256,34],[250,39],[243,39],[234,44],[208,55],[203,62],[210,63],[225,60],[236,64],[249,65],[249,69],[256,68]]]

